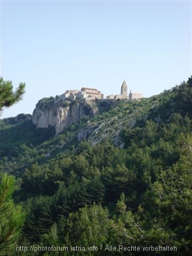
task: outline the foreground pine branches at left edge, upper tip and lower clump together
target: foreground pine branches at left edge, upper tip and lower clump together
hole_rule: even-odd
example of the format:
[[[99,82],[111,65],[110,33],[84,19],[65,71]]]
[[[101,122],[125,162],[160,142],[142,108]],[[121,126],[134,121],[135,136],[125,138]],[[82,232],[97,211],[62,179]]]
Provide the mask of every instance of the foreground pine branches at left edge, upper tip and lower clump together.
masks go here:
[[[25,83],[13,91],[11,81],[3,81],[0,77],[0,115],[4,107],[10,107],[22,99]],[[25,221],[25,213],[21,207],[15,206],[11,199],[15,179],[3,174],[0,184],[0,255],[10,253],[18,241],[21,228]]]

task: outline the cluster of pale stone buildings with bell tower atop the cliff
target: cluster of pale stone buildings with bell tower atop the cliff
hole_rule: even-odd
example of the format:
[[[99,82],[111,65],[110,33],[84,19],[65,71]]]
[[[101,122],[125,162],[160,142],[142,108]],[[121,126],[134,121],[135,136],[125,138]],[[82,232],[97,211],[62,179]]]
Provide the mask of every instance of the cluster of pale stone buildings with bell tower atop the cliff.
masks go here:
[[[62,100],[76,100],[76,99],[100,99],[104,98],[104,95],[97,89],[82,87],[81,91],[79,90],[67,90],[65,93],[59,96]],[[121,94],[110,94],[106,97],[109,100],[117,100],[117,99],[141,99],[142,94],[140,92],[132,92],[130,90],[129,96],[127,95],[127,85],[126,82],[123,81],[121,86]]]

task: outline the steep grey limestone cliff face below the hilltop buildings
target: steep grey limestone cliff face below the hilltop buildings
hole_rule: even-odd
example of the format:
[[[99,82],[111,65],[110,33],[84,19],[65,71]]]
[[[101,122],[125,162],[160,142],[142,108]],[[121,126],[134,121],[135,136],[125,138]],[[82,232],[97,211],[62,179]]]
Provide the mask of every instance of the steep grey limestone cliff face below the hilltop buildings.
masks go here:
[[[97,111],[95,100],[47,102],[46,99],[42,99],[33,111],[33,124],[36,124],[37,128],[54,126],[57,135],[70,124],[85,116],[94,115]]]

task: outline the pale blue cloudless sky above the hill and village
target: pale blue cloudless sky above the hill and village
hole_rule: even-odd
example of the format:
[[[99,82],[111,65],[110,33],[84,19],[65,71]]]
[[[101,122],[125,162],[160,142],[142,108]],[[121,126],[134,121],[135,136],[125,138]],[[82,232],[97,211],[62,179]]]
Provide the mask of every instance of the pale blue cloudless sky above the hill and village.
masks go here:
[[[1,0],[0,76],[26,94],[2,118],[39,99],[93,87],[144,97],[191,75],[191,1]]]

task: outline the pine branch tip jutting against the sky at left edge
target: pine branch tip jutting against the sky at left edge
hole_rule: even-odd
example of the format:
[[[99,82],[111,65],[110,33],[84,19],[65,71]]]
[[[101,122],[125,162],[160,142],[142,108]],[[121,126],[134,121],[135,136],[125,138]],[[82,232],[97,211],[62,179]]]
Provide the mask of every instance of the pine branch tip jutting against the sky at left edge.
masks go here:
[[[0,114],[3,107],[10,107],[20,101],[24,93],[25,83],[20,83],[19,87],[14,92],[12,82],[3,81],[3,78],[0,77]]]

